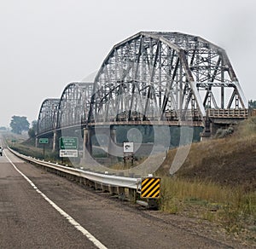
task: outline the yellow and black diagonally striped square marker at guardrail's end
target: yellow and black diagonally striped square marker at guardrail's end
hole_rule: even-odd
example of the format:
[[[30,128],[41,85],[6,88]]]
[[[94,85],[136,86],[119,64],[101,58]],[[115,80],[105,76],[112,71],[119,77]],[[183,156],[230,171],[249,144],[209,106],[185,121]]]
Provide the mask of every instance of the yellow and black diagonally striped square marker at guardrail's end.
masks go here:
[[[159,198],[160,197],[160,178],[147,177],[142,178],[142,198]]]

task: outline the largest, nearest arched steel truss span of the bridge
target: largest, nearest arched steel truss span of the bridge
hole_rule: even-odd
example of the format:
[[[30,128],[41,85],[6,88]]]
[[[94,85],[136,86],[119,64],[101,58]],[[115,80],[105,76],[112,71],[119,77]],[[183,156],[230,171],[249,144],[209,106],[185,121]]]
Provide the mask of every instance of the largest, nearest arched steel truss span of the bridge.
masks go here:
[[[96,75],[90,122],[202,120],[246,100],[224,49],[178,32],[139,32],[113,46]]]

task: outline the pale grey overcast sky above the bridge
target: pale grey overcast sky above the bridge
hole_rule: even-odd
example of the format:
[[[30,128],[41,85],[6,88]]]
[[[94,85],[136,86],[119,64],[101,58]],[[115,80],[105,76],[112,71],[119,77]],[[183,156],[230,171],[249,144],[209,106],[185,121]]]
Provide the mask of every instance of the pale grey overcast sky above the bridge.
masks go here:
[[[44,99],[96,72],[115,43],[140,31],[185,32],[224,48],[256,100],[254,0],[0,0],[0,126],[38,119]]]

